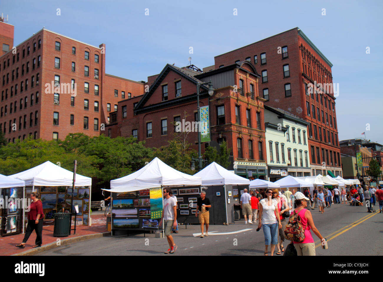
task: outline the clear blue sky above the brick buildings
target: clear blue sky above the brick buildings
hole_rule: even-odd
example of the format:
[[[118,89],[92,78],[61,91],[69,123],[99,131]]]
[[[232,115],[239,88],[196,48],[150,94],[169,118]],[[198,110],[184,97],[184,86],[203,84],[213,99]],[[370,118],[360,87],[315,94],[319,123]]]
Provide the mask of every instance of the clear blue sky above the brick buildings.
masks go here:
[[[147,81],[166,63],[185,66],[189,56],[202,69],[216,55],[299,27],[334,65],[339,140],[366,132],[383,143],[382,7],[382,1],[5,0],[0,12],[15,26],[15,45],[43,26],[105,43],[106,73],[136,81]]]

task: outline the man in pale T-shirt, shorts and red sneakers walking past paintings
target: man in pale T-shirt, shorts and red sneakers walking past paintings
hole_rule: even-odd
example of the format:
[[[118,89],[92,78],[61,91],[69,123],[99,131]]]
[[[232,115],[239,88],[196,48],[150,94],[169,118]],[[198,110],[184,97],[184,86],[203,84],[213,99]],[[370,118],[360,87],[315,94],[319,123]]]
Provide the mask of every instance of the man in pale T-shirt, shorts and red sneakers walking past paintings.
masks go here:
[[[164,200],[164,208],[162,209],[162,217],[159,222],[159,226],[162,225],[162,220],[164,221],[164,230],[165,230],[165,236],[169,243],[169,249],[165,252],[165,254],[173,254],[177,250],[177,245],[174,243],[173,237],[171,234],[172,232],[172,226],[175,228],[177,225],[177,204],[175,200],[170,197],[170,193],[172,192],[172,189],[169,187],[164,188],[163,193],[165,196]]]

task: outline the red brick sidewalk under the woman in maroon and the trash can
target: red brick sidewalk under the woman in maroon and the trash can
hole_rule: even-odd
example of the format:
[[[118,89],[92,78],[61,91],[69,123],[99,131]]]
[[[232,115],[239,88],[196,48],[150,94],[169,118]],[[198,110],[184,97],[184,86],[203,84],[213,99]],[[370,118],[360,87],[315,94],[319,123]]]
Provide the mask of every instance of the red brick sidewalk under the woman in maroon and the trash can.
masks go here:
[[[57,238],[62,240],[68,238],[80,237],[83,235],[98,234],[106,232],[106,217],[103,214],[92,215],[92,226],[83,226],[76,225],[76,234],[73,234],[73,230],[70,232],[71,235],[66,237],[53,237],[53,228],[54,224],[44,223],[43,226],[43,245],[56,242]],[[80,221],[81,223],[81,221]],[[72,228],[74,228],[74,221],[72,220]],[[34,241],[36,240],[36,232],[33,231],[31,236],[29,236],[28,241],[26,242],[25,248],[21,249],[16,247],[17,244],[20,244],[24,239],[24,234],[18,234],[13,236],[0,237],[0,255],[1,256],[10,256],[13,254],[18,254],[24,251],[33,249]]]

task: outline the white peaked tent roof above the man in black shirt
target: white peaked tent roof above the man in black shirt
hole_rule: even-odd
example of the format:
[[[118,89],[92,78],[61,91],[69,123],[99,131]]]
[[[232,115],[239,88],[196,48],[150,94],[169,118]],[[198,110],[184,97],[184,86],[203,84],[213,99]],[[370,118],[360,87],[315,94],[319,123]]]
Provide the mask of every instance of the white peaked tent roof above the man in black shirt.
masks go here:
[[[201,177],[202,185],[249,185],[250,180],[229,172],[218,163],[212,162],[194,176]]]

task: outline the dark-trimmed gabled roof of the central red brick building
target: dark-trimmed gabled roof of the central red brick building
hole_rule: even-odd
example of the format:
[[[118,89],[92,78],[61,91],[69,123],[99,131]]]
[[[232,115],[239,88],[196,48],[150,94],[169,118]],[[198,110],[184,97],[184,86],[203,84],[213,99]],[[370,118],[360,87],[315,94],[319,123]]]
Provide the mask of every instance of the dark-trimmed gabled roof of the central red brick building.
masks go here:
[[[173,71],[177,74],[179,74],[182,78],[187,79],[188,81],[194,83],[197,85],[197,83],[205,83],[204,81],[201,81],[200,79],[195,78],[195,75],[200,74],[198,71],[194,71],[192,69],[189,69],[187,67],[178,68],[176,66],[172,66],[170,64],[166,64],[165,68],[162,69],[161,73],[157,76],[155,81],[152,83],[152,85],[149,88],[149,91],[144,94],[142,99],[138,102],[135,109],[140,109],[145,103],[149,100],[149,98],[154,93],[155,89],[160,86],[161,82],[165,79],[167,74]],[[206,91],[209,90],[207,86],[201,86],[201,88],[205,89]]]

